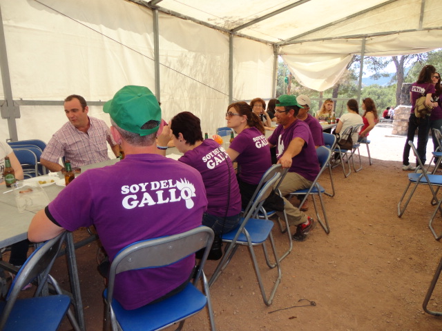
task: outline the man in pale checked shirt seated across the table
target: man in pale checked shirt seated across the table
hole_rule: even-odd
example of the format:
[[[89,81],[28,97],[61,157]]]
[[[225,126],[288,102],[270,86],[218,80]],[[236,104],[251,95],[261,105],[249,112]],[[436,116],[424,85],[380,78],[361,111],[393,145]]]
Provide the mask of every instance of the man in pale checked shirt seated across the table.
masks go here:
[[[106,141],[115,157],[119,146],[113,140],[111,131],[101,119],[88,117],[89,108],[84,97],[70,95],[64,100],[64,112],[68,123],[64,124],[50,139],[40,157],[40,163],[50,171],[60,171],[60,157],[70,161],[72,168],[109,159]]]

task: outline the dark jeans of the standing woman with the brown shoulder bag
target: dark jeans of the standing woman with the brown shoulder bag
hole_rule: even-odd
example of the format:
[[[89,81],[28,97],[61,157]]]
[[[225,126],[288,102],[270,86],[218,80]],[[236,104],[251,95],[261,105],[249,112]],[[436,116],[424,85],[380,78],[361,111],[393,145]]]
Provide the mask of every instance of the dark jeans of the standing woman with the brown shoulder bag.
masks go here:
[[[415,114],[410,114],[410,119],[408,119],[408,132],[407,132],[407,141],[405,141],[405,147],[403,148],[403,157],[402,163],[403,165],[409,165],[410,161],[408,158],[410,157],[410,145],[408,145],[408,141],[414,141],[414,132],[417,129],[417,153],[419,154],[419,158],[422,161],[422,164],[425,164],[427,161],[427,157],[425,156],[425,152],[427,150],[427,141],[428,141],[428,130],[430,130],[430,117],[425,116],[421,118],[416,118]],[[419,165],[416,159],[416,165]]]

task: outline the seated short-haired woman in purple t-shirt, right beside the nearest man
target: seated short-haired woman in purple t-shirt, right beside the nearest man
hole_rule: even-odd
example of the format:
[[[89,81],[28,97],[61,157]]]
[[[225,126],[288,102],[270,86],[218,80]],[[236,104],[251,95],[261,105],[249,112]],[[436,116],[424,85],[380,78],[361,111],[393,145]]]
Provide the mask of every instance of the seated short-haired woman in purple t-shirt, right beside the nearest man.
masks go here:
[[[216,234],[229,232],[240,221],[241,195],[229,156],[213,139],[202,138],[200,119],[180,112],[171,120],[173,143],[184,155],[178,161],[201,173],[206,188],[207,210],[202,224]]]

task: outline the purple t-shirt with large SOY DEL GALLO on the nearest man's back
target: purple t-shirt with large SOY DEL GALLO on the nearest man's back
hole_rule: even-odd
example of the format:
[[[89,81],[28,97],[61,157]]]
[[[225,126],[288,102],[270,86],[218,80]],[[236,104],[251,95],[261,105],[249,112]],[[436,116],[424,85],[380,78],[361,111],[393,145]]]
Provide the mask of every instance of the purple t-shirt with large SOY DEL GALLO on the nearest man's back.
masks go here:
[[[113,261],[131,243],[198,227],[206,205],[198,171],[157,154],[135,154],[86,170],[49,203],[49,212],[69,231],[95,225]],[[115,299],[126,309],[146,305],[184,283],[194,265],[190,256],[163,268],[117,274]]]

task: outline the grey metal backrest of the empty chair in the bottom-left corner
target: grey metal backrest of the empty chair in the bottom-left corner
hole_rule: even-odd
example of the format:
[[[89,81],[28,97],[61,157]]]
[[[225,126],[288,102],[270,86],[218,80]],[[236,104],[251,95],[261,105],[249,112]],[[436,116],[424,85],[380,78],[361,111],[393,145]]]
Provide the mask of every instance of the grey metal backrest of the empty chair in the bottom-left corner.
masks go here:
[[[8,321],[10,312],[14,307],[15,301],[17,301],[21,289],[38,276],[40,276],[41,279],[39,279],[39,286],[35,292],[35,297],[41,295],[41,291],[48,279],[49,271],[52,268],[55,259],[57,259],[57,254],[61,249],[65,237],[66,231],[59,234],[54,239],[46,241],[46,243],[37,248],[37,250],[35,250],[21,266],[17,277],[15,277],[12,282],[8,296],[6,297],[7,303],[1,314],[0,330],[3,330],[6,321]]]

